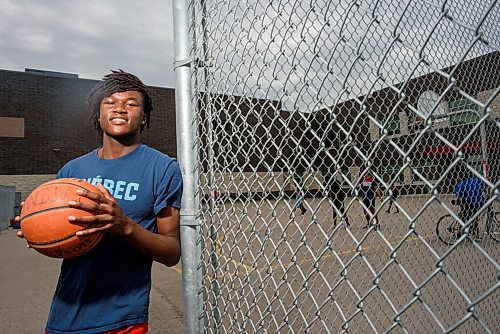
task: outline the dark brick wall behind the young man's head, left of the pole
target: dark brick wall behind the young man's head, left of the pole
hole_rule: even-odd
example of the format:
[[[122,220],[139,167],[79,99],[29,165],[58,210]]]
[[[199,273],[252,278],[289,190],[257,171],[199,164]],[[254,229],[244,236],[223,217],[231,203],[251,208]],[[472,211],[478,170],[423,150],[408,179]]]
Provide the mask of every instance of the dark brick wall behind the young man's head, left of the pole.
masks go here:
[[[0,70],[0,116],[22,117],[25,126],[24,138],[0,137],[0,175],[55,174],[99,146],[84,109],[96,83]],[[175,156],[175,91],[150,87],[150,93],[155,110],[142,142]]]

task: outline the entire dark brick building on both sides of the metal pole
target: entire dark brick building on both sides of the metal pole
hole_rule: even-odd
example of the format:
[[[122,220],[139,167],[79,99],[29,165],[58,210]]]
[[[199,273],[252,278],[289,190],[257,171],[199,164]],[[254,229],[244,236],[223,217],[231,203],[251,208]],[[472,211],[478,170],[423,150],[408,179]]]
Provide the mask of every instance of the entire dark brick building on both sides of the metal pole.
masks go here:
[[[500,85],[499,68],[500,55],[493,52],[312,113],[282,110],[279,101],[227,95],[208,96],[207,102],[202,94],[201,119],[206,119],[205,103],[212,112],[210,147],[216,153],[212,167],[216,173],[257,171],[263,177],[271,168],[273,177],[283,180],[287,174],[300,177],[308,172],[321,179],[338,169],[355,180],[363,155],[371,154],[384,181],[396,179],[402,193],[421,193],[428,189],[418,174],[430,182],[437,180],[457,154],[442,138],[460,145],[472,133],[460,152],[479,170],[484,168],[486,147],[489,173],[498,180],[500,97],[490,104],[492,113],[482,128],[488,139],[483,146],[481,129],[475,128],[483,111],[463,93],[486,102]],[[84,110],[85,96],[96,82],[64,73],[0,70],[0,184],[15,186],[24,198],[53,178],[65,162],[100,144]],[[175,91],[150,87],[150,92],[155,111],[142,141],[176,156]],[[435,117],[415,113],[429,108],[441,95]],[[203,121],[200,126],[205,127],[201,140],[206,143],[209,125]],[[395,145],[411,152],[410,165],[405,167],[407,161]],[[207,152],[202,151],[201,158],[206,173]],[[269,184],[274,187],[271,192],[278,190],[279,182]],[[233,191],[238,190],[229,190]]]

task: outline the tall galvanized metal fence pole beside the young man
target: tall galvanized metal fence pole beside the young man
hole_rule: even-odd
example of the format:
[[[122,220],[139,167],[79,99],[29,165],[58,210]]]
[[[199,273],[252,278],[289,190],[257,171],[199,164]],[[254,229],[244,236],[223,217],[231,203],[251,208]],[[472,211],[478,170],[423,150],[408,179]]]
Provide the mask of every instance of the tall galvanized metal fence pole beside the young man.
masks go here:
[[[191,87],[193,41],[189,34],[188,0],[173,0],[175,108],[177,158],[184,181],[181,209],[182,281],[184,296],[184,332],[202,333],[200,300],[201,244],[197,243],[200,220],[197,219],[199,199],[196,196],[198,175],[194,141],[194,107]]]

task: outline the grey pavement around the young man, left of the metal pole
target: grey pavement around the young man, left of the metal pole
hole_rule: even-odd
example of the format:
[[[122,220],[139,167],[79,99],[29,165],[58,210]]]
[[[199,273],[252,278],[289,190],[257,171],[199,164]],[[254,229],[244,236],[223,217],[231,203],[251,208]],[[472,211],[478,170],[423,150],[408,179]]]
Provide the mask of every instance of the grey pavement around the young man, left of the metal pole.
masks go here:
[[[26,248],[16,230],[0,231],[0,333],[41,334],[61,260]],[[180,264],[153,265],[150,333],[183,333]]]

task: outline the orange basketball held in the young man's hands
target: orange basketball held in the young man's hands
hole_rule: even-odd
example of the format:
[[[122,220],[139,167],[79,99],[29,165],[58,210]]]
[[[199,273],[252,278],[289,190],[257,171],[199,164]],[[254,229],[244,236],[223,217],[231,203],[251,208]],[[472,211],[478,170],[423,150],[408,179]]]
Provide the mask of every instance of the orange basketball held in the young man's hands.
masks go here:
[[[68,216],[92,216],[88,211],[68,206],[68,201],[94,203],[78,195],[77,189],[99,193],[87,181],[64,178],[42,184],[26,198],[20,215],[21,231],[32,248],[50,257],[68,259],[88,252],[102,239],[103,233],[76,235],[96,224],[68,221]]]

